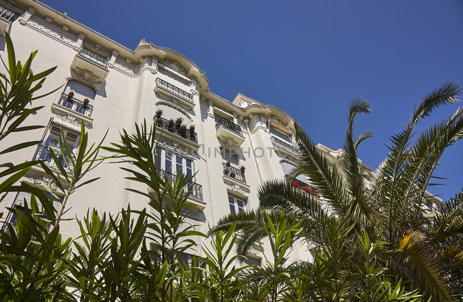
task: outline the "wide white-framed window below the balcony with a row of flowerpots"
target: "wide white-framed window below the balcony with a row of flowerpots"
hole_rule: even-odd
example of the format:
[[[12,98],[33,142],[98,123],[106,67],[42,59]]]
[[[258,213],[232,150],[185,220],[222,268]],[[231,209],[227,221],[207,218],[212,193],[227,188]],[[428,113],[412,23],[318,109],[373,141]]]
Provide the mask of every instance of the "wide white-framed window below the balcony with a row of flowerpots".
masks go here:
[[[158,169],[172,174],[177,174],[180,171],[181,174],[188,175],[188,177],[194,174],[193,161],[189,158],[159,147],[156,148],[155,157],[156,168]]]

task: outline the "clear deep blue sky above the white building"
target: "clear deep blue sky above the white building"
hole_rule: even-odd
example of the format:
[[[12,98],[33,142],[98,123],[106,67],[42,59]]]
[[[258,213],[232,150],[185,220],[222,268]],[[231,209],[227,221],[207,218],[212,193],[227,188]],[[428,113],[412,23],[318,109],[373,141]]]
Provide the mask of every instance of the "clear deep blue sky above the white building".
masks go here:
[[[425,92],[463,84],[461,0],[44,3],[128,48],[145,38],[175,49],[206,72],[214,93],[280,107],[333,149],[342,145],[350,100],[361,96],[373,105],[357,123],[359,133],[377,134],[360,152],[372,167]],[[442,157],[438,176],[451,181],[431,192],[443,199],[463,186],[462,151],[459,142]]]

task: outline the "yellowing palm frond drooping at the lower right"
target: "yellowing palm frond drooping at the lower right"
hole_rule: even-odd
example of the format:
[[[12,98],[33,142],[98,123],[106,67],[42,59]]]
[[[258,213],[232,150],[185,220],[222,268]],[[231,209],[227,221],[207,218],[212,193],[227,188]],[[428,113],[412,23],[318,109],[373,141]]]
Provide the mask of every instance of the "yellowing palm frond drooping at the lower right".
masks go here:
[[[418,232],[407,233],[394,250],[387,252],[393,265],[413,281],[433,301],[453,301],[450,289],[444,284],[439,269],[441,261]]]

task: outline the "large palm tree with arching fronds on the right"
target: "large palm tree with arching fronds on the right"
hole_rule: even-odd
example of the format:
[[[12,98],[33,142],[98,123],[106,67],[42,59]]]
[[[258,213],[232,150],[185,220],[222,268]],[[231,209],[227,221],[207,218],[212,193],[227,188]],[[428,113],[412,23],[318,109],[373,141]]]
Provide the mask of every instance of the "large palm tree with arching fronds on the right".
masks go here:
[[[258,190],[259,209],[229,214],[212,232],[226,230],[236,222],[237,229],[244,233],[238,240],[237,251],[245,254],[253,242],[265,237],[263,209],[269,211],[270,216],[272,212],[276,215],[284,210],[289,219],[304,218],[303,230],[294,241],[303,238],[314,242],[322,251],[319,257],[323,261],[336,260],[338,265],[342,264],[343,274],[338,277],[344,280],[339,282],[350,285],[345,295],[358,291],[362,282],[352,278],[352,274],[359,273],[358,267],[365,258],[357,233],[362,238],[369,236],[370,242],[382,242],[371,257],[384,267],[380,270],[384,278],[391,273],[403,278],[391,286],[401,283],[410,289],[419,289],[426,299],[432,297],[433,301],[459,299],[463,287],[459,281],[463,268],[463,193],[435,213],[424,205],[435,200],[426,189],[436,185],[432,179],[439,179],[434,175],[439,158],[448,146],[463,137],[463,109],[425,130],[416,131],[415,127],[436,109],[459,102],[457,97],[461,92],[459,85],[445,83],[425,94],[413,109],[405,129],[391,136],[389,153],[374,173],[365,171],[358,160],[359,145],[374,135],[372,131],[359,136],[354,133],[356,116],[371,113],[371,105],[363,99],[356,98],[350,104],[343,158],[336,158],[334,162],[295,122],[299,158],[296,168],[288,175],[289,181],[264,182]],[[291,185],[298,175],[308,177],[319,197]],[[349,232],[345,232],[346,229]],[[330,247],[334,247],[336,234],[343,234],[343,241],[335,249],[343,249],[344,253],[333,259],[336,251]],[[386,242],[388,244],[383,244]],[[339,268],[331,264],[328,282],[333,281],[333,270]],[[351,299],[356,301],[360,296],[357,294]],[[342,297],[333,296],[332,300],[341,301]]]

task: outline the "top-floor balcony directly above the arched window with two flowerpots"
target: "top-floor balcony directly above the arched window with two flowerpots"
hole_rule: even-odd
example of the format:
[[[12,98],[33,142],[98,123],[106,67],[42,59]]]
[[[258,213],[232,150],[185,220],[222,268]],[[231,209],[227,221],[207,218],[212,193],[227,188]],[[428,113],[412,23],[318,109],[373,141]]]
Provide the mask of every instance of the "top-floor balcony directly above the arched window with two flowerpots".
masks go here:
[[[94,53],[90,49],[82,48],[75,54],[71,63],[71,69],[81,74],[85,79],[91,79],[94,82],[103,82],[108,75],[108,60],[100,54]]]

